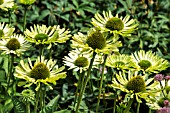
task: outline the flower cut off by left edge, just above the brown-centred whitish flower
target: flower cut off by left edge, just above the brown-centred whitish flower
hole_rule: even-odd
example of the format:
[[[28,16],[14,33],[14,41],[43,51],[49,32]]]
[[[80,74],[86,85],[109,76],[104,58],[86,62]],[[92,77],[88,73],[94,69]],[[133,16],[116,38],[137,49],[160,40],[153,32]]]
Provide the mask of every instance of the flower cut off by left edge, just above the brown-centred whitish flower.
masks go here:
[[[0,23],[0,38],[9,37],[13,34],[15,28],[11,28],[8,24]]]

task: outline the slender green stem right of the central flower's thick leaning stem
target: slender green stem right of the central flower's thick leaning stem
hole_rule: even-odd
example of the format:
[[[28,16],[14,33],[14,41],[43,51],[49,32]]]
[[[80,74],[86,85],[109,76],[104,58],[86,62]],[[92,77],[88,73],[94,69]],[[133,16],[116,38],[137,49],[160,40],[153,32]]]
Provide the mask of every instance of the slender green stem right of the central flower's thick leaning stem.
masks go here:
[[[96,113],[98,113],[99,104],[100,104],[100,95],[101,95],[101,91],[102,91],[106,59],[107,59],[107,55],[104,56],[104,62],[103,62],[103,66],[102,66],[102,74],[101,74],[101,80],[100,80],[100,87],[99,87],[98,101],[97,101],[97,106],[96,106]]]

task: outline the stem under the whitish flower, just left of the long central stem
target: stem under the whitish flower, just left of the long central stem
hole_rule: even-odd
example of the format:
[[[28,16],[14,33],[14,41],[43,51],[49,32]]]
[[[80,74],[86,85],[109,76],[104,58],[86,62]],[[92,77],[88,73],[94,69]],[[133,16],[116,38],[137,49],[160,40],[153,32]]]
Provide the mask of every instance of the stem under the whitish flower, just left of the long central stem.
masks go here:
[[[81,90],[82,88],[82,83],[84,81],[84,71],[82,73],[80,73],[79,79],[78,79],[78,83],[77,83],[77,89],[76,89],[76,93],[75,93],[75,98],[74,98],[74,107],[76,105],[76,101],[77,101],[77,96],[78,96],[78,92],[79,90]],[[80,94],[80,93],[79,93]]]

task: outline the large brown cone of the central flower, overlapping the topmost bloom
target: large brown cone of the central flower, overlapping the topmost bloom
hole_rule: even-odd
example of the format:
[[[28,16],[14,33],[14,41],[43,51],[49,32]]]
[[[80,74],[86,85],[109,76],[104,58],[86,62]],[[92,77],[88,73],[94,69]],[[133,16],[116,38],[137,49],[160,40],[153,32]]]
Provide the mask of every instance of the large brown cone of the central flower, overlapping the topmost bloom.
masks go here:
[[[86,43],[93,49],[103,49],[106,39],[100,31],[94,31],[87,37]]]

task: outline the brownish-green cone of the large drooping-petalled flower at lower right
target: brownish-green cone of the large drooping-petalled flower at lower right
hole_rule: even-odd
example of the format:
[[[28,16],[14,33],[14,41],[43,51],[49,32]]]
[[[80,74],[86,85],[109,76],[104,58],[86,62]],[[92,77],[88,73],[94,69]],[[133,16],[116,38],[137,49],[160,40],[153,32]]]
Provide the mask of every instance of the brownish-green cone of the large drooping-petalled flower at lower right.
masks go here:
[[[133,90],[134,93],[143,92],[146,89],[145,81],[142,76],[133,77],[126,85],[128,90]]]

